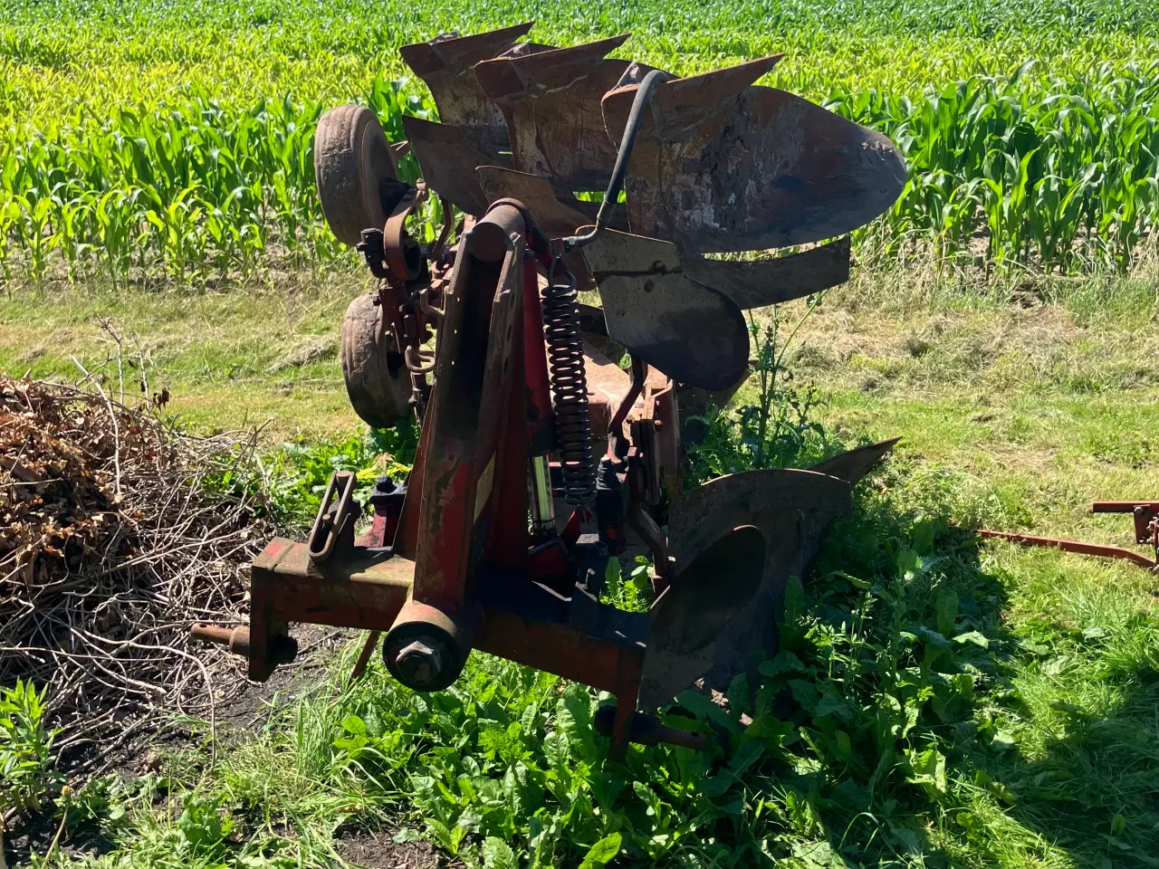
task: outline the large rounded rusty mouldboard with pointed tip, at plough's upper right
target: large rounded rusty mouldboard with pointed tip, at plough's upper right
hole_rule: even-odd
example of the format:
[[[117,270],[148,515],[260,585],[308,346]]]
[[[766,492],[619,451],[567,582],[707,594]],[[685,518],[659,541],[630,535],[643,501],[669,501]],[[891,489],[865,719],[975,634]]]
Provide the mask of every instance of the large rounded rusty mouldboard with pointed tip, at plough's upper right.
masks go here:
[[[634,233],[681,253],[764,250],[844,235],[894,204],[905,183],[894,144],[800,96],[749,86],[770,61],[657,86],[626,182]],[[634,96],[632,86],[604,97],[613,138]]]

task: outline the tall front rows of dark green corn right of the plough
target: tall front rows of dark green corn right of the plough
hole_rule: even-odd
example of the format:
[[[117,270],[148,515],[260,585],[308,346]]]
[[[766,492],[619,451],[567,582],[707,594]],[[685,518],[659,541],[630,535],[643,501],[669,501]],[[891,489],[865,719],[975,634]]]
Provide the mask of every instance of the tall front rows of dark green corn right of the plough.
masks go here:
[[[1044,95],[975,76],[919,100],[860,92],[833,110],[890,136],[910,178],[870,229],[887,244],[928,239],[945,255],[986,240],[996,264],[1130,264],[1159,220],[1159,63],[1105,65]]]

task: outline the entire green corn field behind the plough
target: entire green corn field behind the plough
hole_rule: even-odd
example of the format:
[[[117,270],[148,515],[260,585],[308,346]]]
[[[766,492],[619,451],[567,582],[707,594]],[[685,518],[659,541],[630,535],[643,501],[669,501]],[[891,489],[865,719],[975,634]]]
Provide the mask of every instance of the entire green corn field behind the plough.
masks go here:
[[[103,2],[0,1],[6,280],[207,282],[347,255],[314,191],[321,112],[369,103],[399,139],[404,112],[433,105],[398,45],[534,12],[538,38],[634,29],[630,53],[679,74],[787,51],[768,83],[905,155],[909,182],[858,234],[863,254],[1123,269],[1159,219],[1159,39],[1142,5],[597,3],[575,19],[452,5],[418,20],[355,2]],[[39,27],[51,10],[72,23]],[[772,24],[756,36],[748,20]]]

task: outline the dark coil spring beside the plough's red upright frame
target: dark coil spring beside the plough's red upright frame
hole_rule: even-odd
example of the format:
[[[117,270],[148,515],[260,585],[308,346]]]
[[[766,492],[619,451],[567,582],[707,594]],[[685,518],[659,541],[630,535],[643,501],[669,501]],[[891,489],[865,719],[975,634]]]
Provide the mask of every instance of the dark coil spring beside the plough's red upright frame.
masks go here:
[[[544,289],[544,335],[555,410],[555,439],[563,469],[563,496],[571,506],[588,505],[596,497],[596,460],[591,448],[578,299],[575,277],[555,258]]]

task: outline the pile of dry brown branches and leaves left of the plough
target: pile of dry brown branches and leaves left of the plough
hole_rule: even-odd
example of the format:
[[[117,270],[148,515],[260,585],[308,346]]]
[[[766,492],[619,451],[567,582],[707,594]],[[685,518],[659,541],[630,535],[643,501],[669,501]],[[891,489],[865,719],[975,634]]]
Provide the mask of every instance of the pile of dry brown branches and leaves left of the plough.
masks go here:
[[[243,685],[188,640],[194,621],[241,619],[268,533],[246,497],[204,484],[252,460],[253,440],[229,440],[180,436],[93,380],[0,378],[0,685],[48,688],[59,748],[100,739],[80,754],[108,757],[156,714],[212,717]]]

